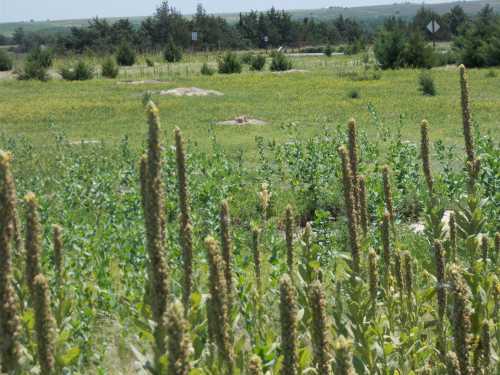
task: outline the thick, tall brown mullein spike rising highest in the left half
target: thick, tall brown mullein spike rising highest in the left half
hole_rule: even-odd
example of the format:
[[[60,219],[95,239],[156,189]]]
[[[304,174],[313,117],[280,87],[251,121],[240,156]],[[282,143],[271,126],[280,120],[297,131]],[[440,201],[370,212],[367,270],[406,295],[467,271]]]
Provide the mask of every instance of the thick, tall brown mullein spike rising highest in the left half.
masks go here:
[[[146,227],[146,249],[149,258],[149,292],[155,322],[155,367],[163,371],[166,354],[168,271],[165,248],[165,192],[162,177],[160,116],[153,102],[146,106],[149,124],[148,152],[141,160],[141,193]]]

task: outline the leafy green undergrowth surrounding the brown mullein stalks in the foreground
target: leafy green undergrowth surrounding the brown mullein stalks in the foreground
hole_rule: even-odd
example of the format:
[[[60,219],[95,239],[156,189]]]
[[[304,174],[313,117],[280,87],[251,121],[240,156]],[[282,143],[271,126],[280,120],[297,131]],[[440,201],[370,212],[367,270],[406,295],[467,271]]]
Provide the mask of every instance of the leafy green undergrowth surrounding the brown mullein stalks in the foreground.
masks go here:
[[[240,77],[238,78],[238,80]],[[151,96],[147,97],[149,101]],[[137,103],[134,110],[137,111]],[[375,117],[376,111],[370,113]],[[165,120],[169,114],[164,112]],[[166,122],[166,121],[165,121]],[[408,125],[403,123],[400,128]],[[403,126],[404,125],[404,126]],[[363,129],[363,128],[362,128]],[[179,234],[179,187],[176,183],[176,150],[170,147],[173,137],[163,131],[164,155],[162,176],[168,186],[164,196],[165,241],[168,241],[169,285],[172,300],[182,294],[182,238]],[[400,129],[399,129],[400,130]],[[21,137],[6,138],[0,134],[0,147],[14,155],[18,196],[36,191],[40,197],[44,238],[48,238],[52,223],[58,222],[64,231],[64,280],[56,282],[52,247],[44,244],[43,269],[53,295],[57,317],[56,362],[60,373],[106,374],[118,368],[120,373],[136,371],[137,365],[147,368],[152,363],[153,326],[149,307],[150,296],[145,292],[148,269],[144,248],[146,235],[139,187],[137,160],[143,150],[129,144],[128,138],[118,144],[75,145],[57,128],[51,128],[55,145],[34,147]],[[142,129],[146,131],[146,126]],[[329,319],[325,327],[335,337],[350,337],[355,345],[340,345],[336,341],[336,369],[358,374],[424,372],[432,366],[439,372],[446,365],[439,350],[439,324],[445,332],[447,348],[453,348],[452,315],[454,295],[450,292],[442,323],[438,323],[436,303],[436,266],[427,234],[413,233],[408,224],[422,219],[426,188],[420,171],[420,158],[415,143],[401,137],[398,129],[381,136],[358,132],[359,173],[366,177],[369,211],[369,232],[363,239],[360,273],[353,275],[346,213],[343,202],[340,161],[337,148],[346,142],[344,126],[318,130],[313,137],[304,136],[302,128],[288,125],[282,129],[285,142],[275,142],[267,136],[257,139],[258,158],[251,164],[239,153],[225,151],[212,131],[208,132],[209,148],[187,143],[189,204],[193,219],[193,278],[195,286],[186,316],[192,350],[193,373],[219,373],[220,363],[211,354],[206,311],[208,294],[206,250],[202,240],[219,233],[220,202],[231,207],[231,239],[233,243],[234,309],[228,314],[234,335],[235,372],[244,373],[251,357],[258,355],[262,371],[279,373],[282,368],[281,335],[276,312],[279,309],[279,280],[288,265],[283,236],[284,208],[293,204],[293,220],[297,230],[293,238],[296,269],[294,287],[297,303],[297,368],[299,373],[313,371],[311,346],[312,320],[308,298],[309,283],[321,278],[325,294],[325,309]],[[3,133],[2,133],[3,134]],[[432,134],[432,133],[431,133]],[[436,152],[439,147],[435,147]],[[431,210],[427,225],[432,236],[441,235],[442,210],[457,209],[459,226],[457,264],[463,268],[464,283],[470,293],[471,336],[478,336],[483,320],[495,317],[495,293],[498,288],[497,269],[493,257],[483,262],[477,254],[477,238],[487,233],[490,238],[497,230],[495,202],[499,183],[498,141],[477,136],[477,153],[484,171],[478,180],[481,197],[465,197],[467,187],[463,170],[457,160],[463,153],[453,148],[438,157],[445,163],[443,175],[435,175],[436,194],[440,205]],[[47,157],[50,155],[50,157]],[[484,161],[484,164],[483,164]],[[42,162],[42,163],[41,163]],[[379,248],[378,223],[384,210],[380,166],[389,164],[396,211],[394,249],[411,250],[411,268],[400,272],[404,288],[396,282],[368,283],[368,252]],[[37,173],[34,174],[36,169]],[[448,169],[447,169],[448,168]],[[451,169],[451,171],[450,171]],[[269,191],[266,215],[260,211],[259,192],[262,184]],[[0,189],[1,190],[1,189]],[[432,208],[432,207],[431,207]],[[22,211],[19,210],[22,215]],[[427,219],[427,217],[426,217]],[[302,228],[309,223],[309,238],[300,240]],[[262,286],[256,287],[254,264],[251,261],[250,225],[261,229],[259,245],[262,252]],[[439,232],[439,233],[438,233]],[[397,238],[396,238],[397,236]],[[444,238],[443,246],[448,246]],[[16,297],[30,303],[23,283],[24,260],[19,253],[13,257]],[[407,263],[404,262],[403,265]],[[448,263],[450,265],[450,263]],[[380,270],[391,269],[379,260]],[[396,265],[394,264],[394,268]],[[354,279],[353,276],[356,276]],[[446,291],[451,288],[446,288]],[[23,373],[37,371],[36,346],[33,345],[33,313],[30,308],[21,316],[23,351],[27,354]],[[492,328],[492,333],[493,333]],[[331,339],[331,337],[329,337]],[[325,337],[325,339],[327,339]],[[252,346],[248,350],[248,342]],[[341,340],[342,341],[342,340]],[[329,344],[326,343],[326,344]],[[186,346],[187,349],[191,347]],[[374,350],[375,348],[375,350]],[[498,350],[498,337],[491,335],[492,352]],[[329,345],[325,345],[329,350]],[[471,348],[472,352],[473,348]],[[110,352],[123,362],[110,358]],[[498,359],[494,354],[484,366],[484,373],[494,373]],[[162,359],[165,364],[168,358]],[[259,361],[257,361],[259,362]],[[260,365],[259,362],[259,365]],[[344,366],[344,367],[342,367]],[[354,370],[352,369],[354,367]],[[311,369],[311,370],[308,370]]]

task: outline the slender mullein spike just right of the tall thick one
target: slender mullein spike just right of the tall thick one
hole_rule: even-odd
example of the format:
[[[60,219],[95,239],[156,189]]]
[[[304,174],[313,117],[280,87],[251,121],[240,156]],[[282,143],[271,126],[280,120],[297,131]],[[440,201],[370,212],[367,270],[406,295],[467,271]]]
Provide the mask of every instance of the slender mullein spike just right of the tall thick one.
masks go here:
[[[193,227],[190,217],[189,189],[186,172],[186,153],[184,141],[179,128],[175,129],[175,153],[177,161],[177,184],[179,191],[180,215],[180,240],[182,247],[183,262],[183,291],[182,302],[184,313],[190,308],[191,291],[193,288]]]

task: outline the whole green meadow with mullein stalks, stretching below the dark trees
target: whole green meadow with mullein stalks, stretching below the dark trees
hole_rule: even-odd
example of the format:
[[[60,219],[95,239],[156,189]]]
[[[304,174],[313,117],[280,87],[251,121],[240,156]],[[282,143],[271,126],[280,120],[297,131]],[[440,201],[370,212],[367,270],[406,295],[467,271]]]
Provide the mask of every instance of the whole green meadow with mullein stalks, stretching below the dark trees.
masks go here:
[[[205,61],[0,81],[3,372],[498,372],[499,78]]]

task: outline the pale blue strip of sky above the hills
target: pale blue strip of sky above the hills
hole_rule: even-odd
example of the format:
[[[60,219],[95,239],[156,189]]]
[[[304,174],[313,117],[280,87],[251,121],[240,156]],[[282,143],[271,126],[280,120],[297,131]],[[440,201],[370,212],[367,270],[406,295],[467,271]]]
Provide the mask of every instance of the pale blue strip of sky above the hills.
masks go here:
[[[425,0],[442,3],[451,0]],[[161,0],[0,0],[0,22],[34,19],[63,20],[99,17],[151,15]],[[329,6],[394,4],[402,0],[171,0],[169,3],[183,14],[191,14],[198,3],[209,13],[279,9],[315,9]],[[415,2],[422,3],[416,0]]]

